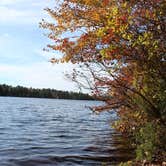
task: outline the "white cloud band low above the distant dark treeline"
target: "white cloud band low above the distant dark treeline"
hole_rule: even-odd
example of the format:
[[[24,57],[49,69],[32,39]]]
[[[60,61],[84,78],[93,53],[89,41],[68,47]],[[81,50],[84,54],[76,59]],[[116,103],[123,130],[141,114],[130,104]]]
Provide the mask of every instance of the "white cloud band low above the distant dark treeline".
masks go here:
[[[0,65],[1,83],[22,85],[34,88],[55,88],[59,90],[77,90],[72,82],[64,78],[64,72],[70,71],[67,64],[51,65],[48,62],[30,66]],[[8,80],[8,82],[2,82]]]

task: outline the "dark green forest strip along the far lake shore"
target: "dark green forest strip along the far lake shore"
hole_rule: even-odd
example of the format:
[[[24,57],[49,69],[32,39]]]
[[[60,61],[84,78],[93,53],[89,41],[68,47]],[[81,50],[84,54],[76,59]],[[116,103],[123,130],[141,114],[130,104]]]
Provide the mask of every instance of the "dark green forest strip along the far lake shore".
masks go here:
[[[34,97],[51,99],[93,100],[92,96],[83,93],[60,91],[55,89],[35,89],[22,86],[0,85],[0,96]]]

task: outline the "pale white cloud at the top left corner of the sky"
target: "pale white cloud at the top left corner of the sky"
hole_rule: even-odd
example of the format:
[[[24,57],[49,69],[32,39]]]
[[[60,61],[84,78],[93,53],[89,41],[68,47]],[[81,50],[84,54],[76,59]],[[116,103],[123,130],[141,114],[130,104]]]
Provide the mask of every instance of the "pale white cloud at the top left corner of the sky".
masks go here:
[[[49,18],[43,9],[51,0],[0,0],[0,22],[5,24],[38,24]]]

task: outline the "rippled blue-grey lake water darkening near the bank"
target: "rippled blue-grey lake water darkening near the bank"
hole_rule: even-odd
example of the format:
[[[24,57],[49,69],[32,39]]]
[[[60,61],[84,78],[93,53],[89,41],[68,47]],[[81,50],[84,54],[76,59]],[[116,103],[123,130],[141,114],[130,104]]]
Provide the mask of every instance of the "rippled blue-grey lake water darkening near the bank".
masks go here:
[[[0,166],[116,165],[131,157],[96,101],[0,97]],[[124,146],[125,145],[125,146]]]

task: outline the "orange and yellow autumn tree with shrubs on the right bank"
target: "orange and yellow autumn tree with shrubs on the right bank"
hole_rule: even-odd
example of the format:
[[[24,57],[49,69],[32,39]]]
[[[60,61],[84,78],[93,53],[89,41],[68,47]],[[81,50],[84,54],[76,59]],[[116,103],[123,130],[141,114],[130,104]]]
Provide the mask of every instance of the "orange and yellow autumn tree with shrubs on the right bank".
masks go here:
[[[113,126],[132,138],[134,162],[166,159],[166,2],[164,0],[63,0],[43,20],[60,51],[52,63],[80,64],[68,76],[114,110]]]

